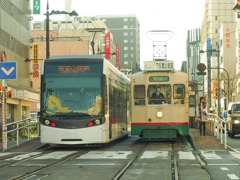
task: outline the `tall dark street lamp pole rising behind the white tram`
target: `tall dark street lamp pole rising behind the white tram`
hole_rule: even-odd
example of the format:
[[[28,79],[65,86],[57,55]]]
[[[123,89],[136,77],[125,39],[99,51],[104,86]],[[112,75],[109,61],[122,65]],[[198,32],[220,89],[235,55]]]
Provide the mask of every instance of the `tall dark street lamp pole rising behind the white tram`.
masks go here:
[[[46,13],[46,59],[49,59],[50,56],[50,44],[49,44],[49,16],[54,14],[69,14],[69,16],[78,16],[76,11],[72,11],[70,13],[65,11],[54,11],[52,10],[51,13],[49,13],[49,5],[47,1],[47,13]]]

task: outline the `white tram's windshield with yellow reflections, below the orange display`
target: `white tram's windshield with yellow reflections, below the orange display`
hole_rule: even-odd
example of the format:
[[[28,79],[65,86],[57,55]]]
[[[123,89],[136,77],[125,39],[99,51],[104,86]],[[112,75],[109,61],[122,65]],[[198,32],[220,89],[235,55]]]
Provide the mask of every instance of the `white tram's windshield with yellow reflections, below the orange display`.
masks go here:
[[[46,115],[101,115],[99,77],[47,78],[45,89],[43,110]]]

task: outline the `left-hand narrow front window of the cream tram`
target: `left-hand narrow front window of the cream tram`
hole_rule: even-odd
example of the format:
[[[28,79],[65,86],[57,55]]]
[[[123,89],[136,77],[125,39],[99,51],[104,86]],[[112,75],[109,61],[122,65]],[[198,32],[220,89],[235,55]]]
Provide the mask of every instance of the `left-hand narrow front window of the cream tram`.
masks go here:
[[[134,86],[134,105],[145,106],[145,85]]]

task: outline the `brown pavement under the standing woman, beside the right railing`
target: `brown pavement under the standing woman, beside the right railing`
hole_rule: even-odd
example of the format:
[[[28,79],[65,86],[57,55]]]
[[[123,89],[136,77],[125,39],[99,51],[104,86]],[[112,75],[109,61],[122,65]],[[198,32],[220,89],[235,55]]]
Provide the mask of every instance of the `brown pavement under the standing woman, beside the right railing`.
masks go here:
[[[206,134],[206,136],[200,136],[199,129],[189,129],[189,134],[192,139],[195,150],[202,151],[222,151],[224,150],[223,146],[220,144],[220,141],[217,140],[212,134]]]

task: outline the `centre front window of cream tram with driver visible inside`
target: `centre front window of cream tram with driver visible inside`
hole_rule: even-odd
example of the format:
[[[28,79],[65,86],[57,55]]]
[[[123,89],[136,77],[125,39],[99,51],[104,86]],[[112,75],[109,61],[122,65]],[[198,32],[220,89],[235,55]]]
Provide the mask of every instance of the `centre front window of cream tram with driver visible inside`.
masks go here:
[[[148,86],[148,104],[171,104],[171,85],[156,84]]]

